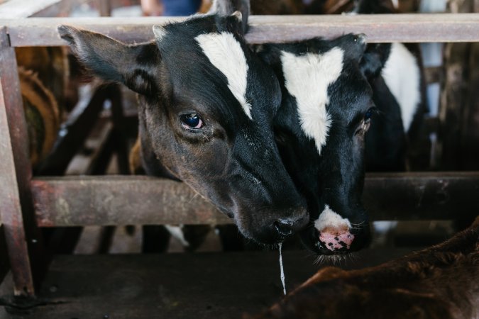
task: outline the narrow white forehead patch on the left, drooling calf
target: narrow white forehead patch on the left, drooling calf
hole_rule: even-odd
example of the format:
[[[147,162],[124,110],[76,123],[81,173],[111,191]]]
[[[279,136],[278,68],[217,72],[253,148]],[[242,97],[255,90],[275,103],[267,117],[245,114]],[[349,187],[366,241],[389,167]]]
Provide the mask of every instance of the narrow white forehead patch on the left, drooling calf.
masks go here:
[[[217,69],[228,79],[228,87],[233,96],[251,118],[251,105],[246,101],[248,65],[240,43],[228,32],[207,33],[196,38],[199,46]]]

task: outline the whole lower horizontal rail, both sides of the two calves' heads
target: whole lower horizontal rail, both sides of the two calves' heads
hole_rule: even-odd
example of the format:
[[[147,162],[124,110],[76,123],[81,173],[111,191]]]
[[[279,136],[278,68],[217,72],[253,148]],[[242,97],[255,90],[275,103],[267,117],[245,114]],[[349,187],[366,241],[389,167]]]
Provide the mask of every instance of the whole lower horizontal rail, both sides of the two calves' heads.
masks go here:
[[[32,181],[38,225],[231,223],[186,184],[140,176]],[[372,220],[471,219],[479,172],[368,174],[363,201]]]

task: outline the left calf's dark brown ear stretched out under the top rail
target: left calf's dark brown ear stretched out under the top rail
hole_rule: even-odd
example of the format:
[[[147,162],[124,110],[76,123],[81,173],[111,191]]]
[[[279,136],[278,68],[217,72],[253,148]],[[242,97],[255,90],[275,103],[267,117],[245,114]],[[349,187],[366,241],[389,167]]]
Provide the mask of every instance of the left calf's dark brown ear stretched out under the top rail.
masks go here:
[[[71,26],[59,26],[57,29],[79,61],[94,74],[102,79],[123,83],[139,94],[155,93],[157,86],[152,66],[160,60],[155,45],[125,45],[106,35]]]

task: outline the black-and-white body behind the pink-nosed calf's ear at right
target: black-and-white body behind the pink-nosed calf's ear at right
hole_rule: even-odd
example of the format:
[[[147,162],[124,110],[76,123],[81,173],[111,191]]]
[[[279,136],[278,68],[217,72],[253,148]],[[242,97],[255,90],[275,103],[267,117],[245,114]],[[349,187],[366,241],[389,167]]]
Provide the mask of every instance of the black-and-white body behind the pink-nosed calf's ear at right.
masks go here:
[[[352,12],[396,13],[397,10],[391,0],[360,0]],[[414,148],[421,142],[422,119],[427,112],[419,45],[371,44],[367,50],[380,51],[384,67],[367,74],[378,112],[373,114],[374,125],[366,136],[366,169],[404,171],[408,164],[414,167],[424,162],[414,158],[417,152]],[[412,159],[412,163],[408,159]]]

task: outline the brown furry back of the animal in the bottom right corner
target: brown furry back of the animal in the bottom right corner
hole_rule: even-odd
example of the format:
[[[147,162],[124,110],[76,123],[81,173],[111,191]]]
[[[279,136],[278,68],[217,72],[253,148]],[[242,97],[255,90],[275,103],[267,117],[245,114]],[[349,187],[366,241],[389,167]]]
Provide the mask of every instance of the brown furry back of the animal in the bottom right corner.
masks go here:
[[[479,216],[441,245],[377,267],[321,269],[254,318],[479,318]]]

